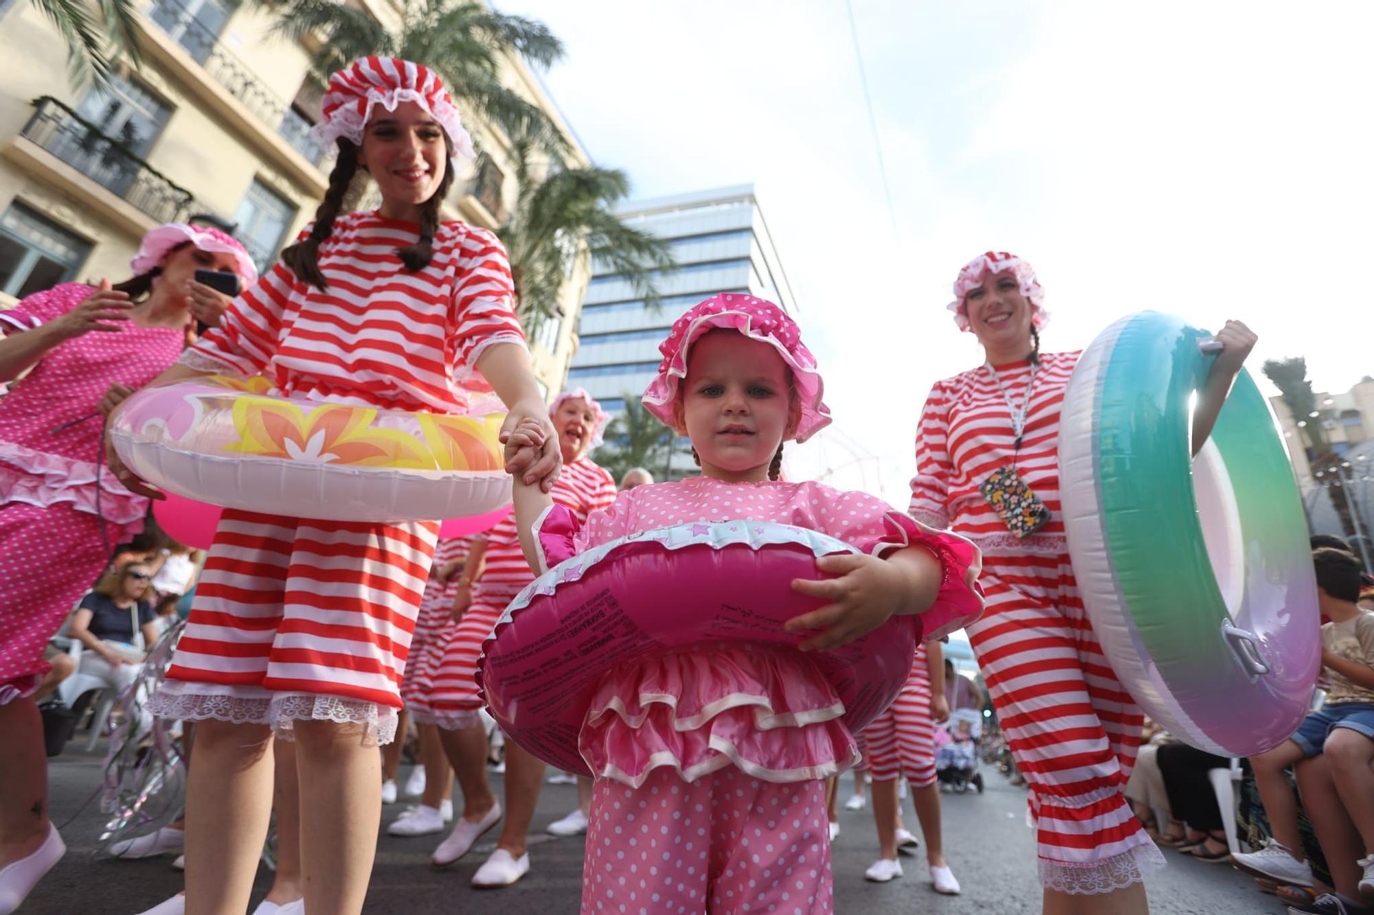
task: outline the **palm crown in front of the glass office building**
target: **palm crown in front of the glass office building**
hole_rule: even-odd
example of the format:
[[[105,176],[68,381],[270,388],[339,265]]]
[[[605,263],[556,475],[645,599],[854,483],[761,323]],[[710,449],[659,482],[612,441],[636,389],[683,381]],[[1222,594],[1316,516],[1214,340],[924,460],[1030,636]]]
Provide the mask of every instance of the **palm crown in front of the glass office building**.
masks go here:
[[[654,271],[676,262],[666,240],[625,225],[613,212],[629,194],[625,173],[570,168],[555,158],[540,176],[536,146],[530,136],[513,139],[519,196],[496,229],[510,257],[517,309],[526,330],[533,332],[561,313],[559,293],[584,249],[629,280],[650,309],[660,308]]]

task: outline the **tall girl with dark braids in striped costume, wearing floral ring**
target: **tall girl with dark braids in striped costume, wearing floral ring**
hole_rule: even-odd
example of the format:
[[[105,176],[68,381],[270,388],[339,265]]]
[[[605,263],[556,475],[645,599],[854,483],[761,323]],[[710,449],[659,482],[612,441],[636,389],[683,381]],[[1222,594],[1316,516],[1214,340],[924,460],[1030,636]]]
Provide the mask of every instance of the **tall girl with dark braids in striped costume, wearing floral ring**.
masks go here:
[[[313,227],[159,378],[262,374],[322,403],[467,408],[481,372],[552,430],[513,309],[510,267],[484,229],[444,223],[471,142],[438,78],[365,58],[330,80],[322,143],[338,161]],[[364,168],[382,205],[339,214]],[[552,484],[556,449],[530,473]],[[139,486],[111,459],[121,479]],[[529,475],[529,474],[526,474]],[[306,908],[363,908],[376,848],[376,745],[398,686],[438,522],[368,523],[227,510],[157,713],[202,721],[187,789],[187,911],[245,911],[272,801],[269,746],[298,741]]]

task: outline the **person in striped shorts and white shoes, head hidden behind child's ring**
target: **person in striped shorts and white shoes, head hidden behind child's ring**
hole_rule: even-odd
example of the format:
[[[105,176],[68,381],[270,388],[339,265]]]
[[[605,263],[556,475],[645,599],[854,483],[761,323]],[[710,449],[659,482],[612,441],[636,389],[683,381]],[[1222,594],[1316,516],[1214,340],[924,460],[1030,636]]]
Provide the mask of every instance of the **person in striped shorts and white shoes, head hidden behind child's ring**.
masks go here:
[[[911,673],[901,692],[863,730],[864,761],[872,778],[872,819],[878,826],[878,860],[864,871],[870,881],[885,883],[901,877],[897,860],[897,826],[901,822],[897,779],[905,776],[911,801],[926,839],[926,864],[937,893],[955,894],[955,879],[944,857],[940,827],[940,789],[936,784],[936,721],[949,719],[944,697],[944,651],[938,642],[916,646]]]

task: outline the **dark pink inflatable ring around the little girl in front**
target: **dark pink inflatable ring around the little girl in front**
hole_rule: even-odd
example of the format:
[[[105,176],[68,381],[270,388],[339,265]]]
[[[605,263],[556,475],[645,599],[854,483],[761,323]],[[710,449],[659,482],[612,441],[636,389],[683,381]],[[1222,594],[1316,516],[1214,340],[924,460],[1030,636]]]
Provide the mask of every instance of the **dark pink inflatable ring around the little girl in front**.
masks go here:
[[[816,559],[860,552],[826,534],[754,521],[683,523],[613,540],[521,591],[482,646],[477,684],[506,734],[566,772],[591,775],[577,736],[611,668],[688,646],[794,648],[782,624],[822,606],[791,589],[826,578]],[[857,642],[809,654],[859,734],[901,690],[919,617],[893,617]]]

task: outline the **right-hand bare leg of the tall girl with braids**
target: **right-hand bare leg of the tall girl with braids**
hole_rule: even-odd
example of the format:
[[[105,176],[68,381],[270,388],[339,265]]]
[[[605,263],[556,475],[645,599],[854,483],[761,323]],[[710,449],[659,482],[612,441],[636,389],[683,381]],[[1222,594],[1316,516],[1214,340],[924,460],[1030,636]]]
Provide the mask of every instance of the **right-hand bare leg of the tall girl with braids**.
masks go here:
[[[361,724],[297,721],[301,874],[312,912],[361,912],[382,820],[381,754]]]

